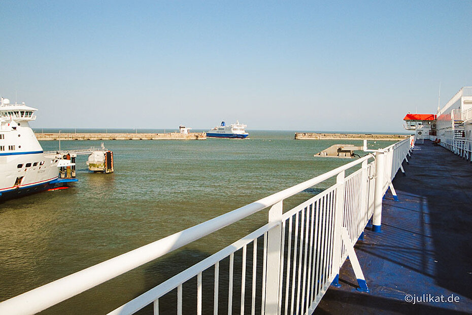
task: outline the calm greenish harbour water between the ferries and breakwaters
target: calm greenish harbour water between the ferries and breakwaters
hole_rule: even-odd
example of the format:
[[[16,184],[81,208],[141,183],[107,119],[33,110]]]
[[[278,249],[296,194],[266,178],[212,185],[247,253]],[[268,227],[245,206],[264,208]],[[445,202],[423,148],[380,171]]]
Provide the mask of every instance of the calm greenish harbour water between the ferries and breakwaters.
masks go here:
[[[105,146],[114,153],[115,173],[90,173],[87,156],[79,156],[79,182],[72,188],[1,203],[0,301],[351,161],[313,157],[339,141],[295,141],[291,131],[249,132],[250,138],[244,140],[107,141]],[[361,145],[360,141],[343,143]],[[41,144],[44,150],[58,148],[57,142]],[[62,149],[99,145],[100,141],[61,142]],[[284,208],[332,184],[333,180],[327,181],[300,193]],[[44,313],[111,311],[260,227],[266,215],[253,215]]]

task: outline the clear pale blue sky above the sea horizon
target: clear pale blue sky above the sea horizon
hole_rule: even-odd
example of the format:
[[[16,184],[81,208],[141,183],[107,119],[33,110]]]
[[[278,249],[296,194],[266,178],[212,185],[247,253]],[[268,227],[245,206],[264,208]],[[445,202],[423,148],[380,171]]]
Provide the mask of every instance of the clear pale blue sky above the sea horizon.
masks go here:
[[[471,1],[0,2],[33,127],[402,131],[472,85]],[[16,96],[17,95],[17,96]]]

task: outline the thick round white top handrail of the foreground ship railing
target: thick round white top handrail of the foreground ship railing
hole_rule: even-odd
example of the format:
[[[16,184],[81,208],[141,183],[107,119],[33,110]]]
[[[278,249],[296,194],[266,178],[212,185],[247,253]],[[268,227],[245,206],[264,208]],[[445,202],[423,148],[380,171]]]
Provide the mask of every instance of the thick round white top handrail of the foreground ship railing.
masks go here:
[[[404,139],[403,141],[395,143],[385,149],[389,150],[405,141],[409,142],[410,138]],[[174,233],[170,236],[166,236],[102,263],[98,263],[94,266],[62,277],[39,288],[20,294],[1,302],[0,313],[34,314],[40,312],[147,262],[177,250],[194,240],[216,232],[221,228],[244,219],[331,177],[337,176],[340,172],[361,164],[363,161],[373,157],[372,154],[368,154],[358,160],[352,161],[313,179],[234,209],[231,212]]]

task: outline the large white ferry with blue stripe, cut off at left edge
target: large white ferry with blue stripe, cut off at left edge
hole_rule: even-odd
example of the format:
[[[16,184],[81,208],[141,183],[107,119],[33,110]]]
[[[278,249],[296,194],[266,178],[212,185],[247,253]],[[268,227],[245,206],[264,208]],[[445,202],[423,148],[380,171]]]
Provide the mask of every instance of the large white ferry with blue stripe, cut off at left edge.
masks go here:
[[[77,181],[59,178],[59,168],[74,163],[44,154],[28,124],[36,119],[36,111],[24,102],[10,104],[8,98],[0,98],[0,200]]]

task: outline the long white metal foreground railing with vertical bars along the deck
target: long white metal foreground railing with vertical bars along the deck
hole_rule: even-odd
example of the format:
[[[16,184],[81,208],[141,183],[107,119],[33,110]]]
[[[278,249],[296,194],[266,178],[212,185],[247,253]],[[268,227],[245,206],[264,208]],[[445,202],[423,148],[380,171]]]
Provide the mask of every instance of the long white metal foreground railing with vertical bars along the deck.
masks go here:
[[[110,314],[132,314],[150,304],[154,314],[167,313],[159,301],[168,293],[177,295],[174,306],[180,315],[188,307],[184,297],[187,303],[192,301],[191,313],[196,314],[218,314],[222,308],[228,313],[237,309],[241,313],[251,309],[252,314],[311,313],[339,274],[347,248],[356,243],[368,220],[380,215],[384,183],[393,178],[413,143],[413,138],[404,139],[375,155],[23,293],[0,303],[0,313],[42,311],[263,209],[268,209],[267,224]],[[283,212],[285,199],[317,185],[330,186]],[[188,287],[190,281],[195,285]],[[203,290],[204,283],[212,288]],[[203,295],[212,297],[204,303]]]

